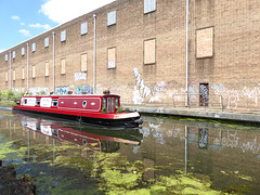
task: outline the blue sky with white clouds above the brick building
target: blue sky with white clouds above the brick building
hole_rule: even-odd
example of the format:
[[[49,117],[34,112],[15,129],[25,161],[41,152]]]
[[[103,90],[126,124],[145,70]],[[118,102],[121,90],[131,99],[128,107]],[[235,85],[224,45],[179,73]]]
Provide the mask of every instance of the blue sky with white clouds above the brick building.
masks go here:
[[[0,0],[0,52],[114,0]]]

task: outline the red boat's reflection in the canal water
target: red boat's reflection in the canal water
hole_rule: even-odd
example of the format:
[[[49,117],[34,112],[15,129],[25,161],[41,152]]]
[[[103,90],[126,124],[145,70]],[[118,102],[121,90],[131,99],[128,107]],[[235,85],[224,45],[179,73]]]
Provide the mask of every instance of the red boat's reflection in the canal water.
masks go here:
[[[34,132],[74,145],[86,145],[90,150],[99,152],[116,152],[120,148],[120,143],[140,145],[143,139],[139,129],[107,130],[63,123],[27,115],[17,116],[22,126]]]

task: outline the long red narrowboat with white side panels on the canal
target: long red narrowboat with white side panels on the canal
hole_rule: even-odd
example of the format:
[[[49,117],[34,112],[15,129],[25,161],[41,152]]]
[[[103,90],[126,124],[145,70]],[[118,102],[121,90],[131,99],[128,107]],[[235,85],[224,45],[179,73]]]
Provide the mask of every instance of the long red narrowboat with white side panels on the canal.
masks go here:
[[[143,123],[138,112],[122,112],[120,96],[114,94],[22,96],[13,110],[108,127],[134,128]]]

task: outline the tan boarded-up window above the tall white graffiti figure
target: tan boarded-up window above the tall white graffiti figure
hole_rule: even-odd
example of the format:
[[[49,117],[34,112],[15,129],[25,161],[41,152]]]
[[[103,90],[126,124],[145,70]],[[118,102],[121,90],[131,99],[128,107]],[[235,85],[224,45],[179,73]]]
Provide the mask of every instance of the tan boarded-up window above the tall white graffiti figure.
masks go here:
[[[155,64],[155,39],[144,41],[144,64]]]

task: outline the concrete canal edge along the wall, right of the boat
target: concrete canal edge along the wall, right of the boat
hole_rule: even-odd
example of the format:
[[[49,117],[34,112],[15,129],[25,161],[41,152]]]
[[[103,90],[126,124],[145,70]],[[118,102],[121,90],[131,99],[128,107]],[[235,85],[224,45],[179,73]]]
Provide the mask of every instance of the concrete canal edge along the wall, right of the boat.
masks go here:
[[[207,110],[204,108],[174,108],[174,107],[156,107],[156,106],[142,106],[142,105],[122,105],[122,108],[130,110],[138,110],[141,114],[155,114],[155,115],[170,115],[180,117],[192,118],[206,118],[216,120],[233,120],[242,122],[260,122],[260,112],[222,112],[222,110]]]

